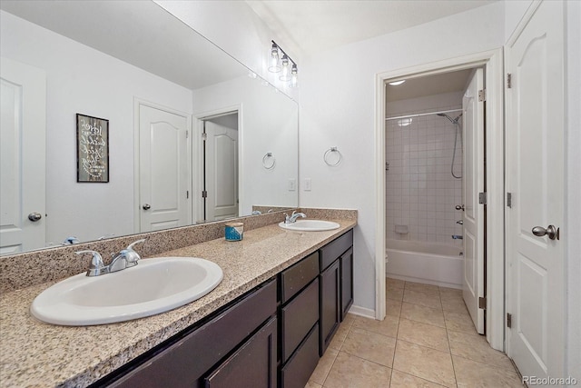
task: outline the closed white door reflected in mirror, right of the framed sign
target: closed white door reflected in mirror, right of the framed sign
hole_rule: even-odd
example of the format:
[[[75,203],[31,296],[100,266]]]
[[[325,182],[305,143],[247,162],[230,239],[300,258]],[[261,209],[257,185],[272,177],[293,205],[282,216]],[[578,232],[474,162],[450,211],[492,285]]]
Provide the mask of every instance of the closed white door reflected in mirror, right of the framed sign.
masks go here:
[[[191,224],[188,117],[139,104],[140,232]]]

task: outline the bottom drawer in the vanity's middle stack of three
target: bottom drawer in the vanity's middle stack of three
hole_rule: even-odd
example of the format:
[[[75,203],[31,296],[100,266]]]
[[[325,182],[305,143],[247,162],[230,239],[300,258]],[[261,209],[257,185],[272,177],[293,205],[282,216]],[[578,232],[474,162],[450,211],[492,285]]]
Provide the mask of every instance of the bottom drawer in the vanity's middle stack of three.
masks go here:
[[[281,388],[303,388],[319,363],[319,323],[281,368]]]

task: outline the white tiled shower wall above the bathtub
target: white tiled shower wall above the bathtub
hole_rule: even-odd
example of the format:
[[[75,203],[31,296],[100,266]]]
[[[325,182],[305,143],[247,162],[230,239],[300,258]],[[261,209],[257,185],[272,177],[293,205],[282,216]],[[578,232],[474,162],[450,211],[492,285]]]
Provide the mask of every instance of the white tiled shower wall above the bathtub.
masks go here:
[[[387,104],[387,116],[461,109],[462,93],[430,95]],[[448,113],[456,118],[461,111]],[[446,117],[429,114],[413,117],[411,123],[386,125],[387,238],[461,245],[452,234],[462,234],[456,224],[462,212],[462,180],[450,173],[454,152],[455,125]],[[459,120],[460,129],[462,119]],[[462,174],[462,145],[458,134],[454,173]],[[396,233],[396,225],[407,225],[408,234]]]

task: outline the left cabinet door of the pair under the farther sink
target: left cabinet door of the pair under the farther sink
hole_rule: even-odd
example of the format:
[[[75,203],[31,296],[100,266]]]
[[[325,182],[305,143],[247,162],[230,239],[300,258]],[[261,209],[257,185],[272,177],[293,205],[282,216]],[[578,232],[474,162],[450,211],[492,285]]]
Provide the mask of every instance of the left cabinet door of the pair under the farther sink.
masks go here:
[[[340,260],[320,274],[320,355],[329,346],[340,323]]]

